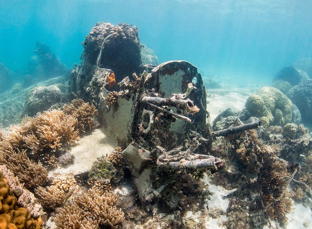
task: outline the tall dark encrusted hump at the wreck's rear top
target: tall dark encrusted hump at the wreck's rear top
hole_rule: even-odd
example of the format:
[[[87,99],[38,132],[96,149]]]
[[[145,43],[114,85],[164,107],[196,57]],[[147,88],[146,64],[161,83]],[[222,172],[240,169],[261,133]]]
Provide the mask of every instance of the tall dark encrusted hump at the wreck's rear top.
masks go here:
[[[82,43],[87,64],[97,64],[102,47],[99,66],[115,72],[117,82],[132,73],[138,72],[141,64],[138,29],[125,23],[112,25],[98,22]]]

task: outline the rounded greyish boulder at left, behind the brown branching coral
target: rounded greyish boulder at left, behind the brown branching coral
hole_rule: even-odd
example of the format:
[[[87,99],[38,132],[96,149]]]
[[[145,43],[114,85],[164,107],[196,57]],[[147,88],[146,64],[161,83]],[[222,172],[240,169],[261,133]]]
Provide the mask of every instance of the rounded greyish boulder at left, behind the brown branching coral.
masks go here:
[[[49,109],[52,105],[58,103],[60,99],[60,89],[55,85],[34,87],[29,92],[26,100],[26,112],[28,115],[33,116],[40,111]]]

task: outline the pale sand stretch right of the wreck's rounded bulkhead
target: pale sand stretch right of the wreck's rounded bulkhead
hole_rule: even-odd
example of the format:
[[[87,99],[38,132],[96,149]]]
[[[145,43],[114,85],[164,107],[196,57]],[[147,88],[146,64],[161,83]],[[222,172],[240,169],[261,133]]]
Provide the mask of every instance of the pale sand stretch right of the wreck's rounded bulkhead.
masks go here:
[[[210,113],[211,121],[214,121],[222,111],[231,108],[240,111],[244,108],[247,98],[254,94],[258,88],[226,88],[210,89],[207,91],[207,110]]]

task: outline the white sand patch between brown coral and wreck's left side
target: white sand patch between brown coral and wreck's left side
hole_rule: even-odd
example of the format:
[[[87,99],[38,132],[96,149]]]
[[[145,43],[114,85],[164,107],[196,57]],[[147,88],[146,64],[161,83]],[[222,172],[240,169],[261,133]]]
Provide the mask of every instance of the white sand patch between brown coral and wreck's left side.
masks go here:
[[[75,157],[74,164],[57,168],[51,171],[50,175],[56,173],[77,175],[86,172],[98,157],[109,155],[115,147],[112,137],[107,136],[101,129],[96,129],[90,135],[82,136],[78,144],[71,148],[69,153]]]

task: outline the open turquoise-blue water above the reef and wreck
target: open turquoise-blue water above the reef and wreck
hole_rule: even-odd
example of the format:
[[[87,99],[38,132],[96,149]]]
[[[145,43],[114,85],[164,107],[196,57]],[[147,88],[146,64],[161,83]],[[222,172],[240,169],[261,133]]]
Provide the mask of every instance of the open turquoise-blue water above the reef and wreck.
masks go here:
[[[27,68],[39,41],[71,68],[98,21],[136,25],[159,63],[186,60],[204,76],[271,81],[312,57],[311,0],[1,0],[0,62]]]

